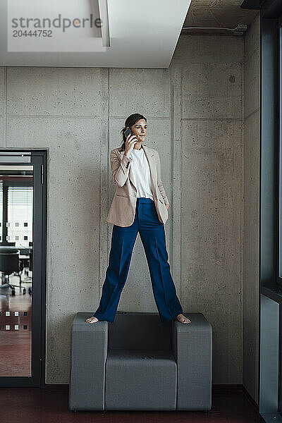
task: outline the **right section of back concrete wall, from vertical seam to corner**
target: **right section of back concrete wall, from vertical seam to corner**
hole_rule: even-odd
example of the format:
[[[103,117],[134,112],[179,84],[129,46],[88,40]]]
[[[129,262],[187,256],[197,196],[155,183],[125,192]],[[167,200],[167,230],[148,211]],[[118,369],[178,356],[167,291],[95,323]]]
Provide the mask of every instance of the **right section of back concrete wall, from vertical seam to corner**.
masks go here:
[[[181,37],[180,298],[214,329],[213,383],[242,383],[243,37]],[[174,62],[173,62],[174,63]]]

